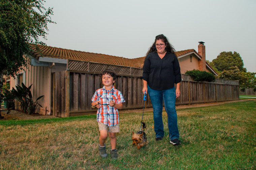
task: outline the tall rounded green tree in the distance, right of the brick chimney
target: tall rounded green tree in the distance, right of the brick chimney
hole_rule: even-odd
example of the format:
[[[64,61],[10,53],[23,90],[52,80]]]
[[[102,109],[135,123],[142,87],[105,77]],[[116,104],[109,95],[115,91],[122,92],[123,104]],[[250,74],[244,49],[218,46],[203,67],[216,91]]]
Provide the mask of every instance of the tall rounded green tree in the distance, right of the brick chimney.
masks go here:
[[[219,71],[230,70],[231,67],[237,67],[240,71],[246,72],[244,62],[239,53],[235,52],[221,52],[212,63]],[[210,65],[211,65],[210,64]]]

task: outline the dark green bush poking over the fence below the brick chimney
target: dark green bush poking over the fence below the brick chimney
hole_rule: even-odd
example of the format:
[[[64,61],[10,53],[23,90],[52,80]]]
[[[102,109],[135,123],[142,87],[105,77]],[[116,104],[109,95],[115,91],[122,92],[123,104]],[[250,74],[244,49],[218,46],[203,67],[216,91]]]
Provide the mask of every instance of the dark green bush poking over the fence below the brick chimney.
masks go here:
[[[190,70],[186,71],[185,74],[190,75],[195,81],[215,81],[215,76],[207,71]]]

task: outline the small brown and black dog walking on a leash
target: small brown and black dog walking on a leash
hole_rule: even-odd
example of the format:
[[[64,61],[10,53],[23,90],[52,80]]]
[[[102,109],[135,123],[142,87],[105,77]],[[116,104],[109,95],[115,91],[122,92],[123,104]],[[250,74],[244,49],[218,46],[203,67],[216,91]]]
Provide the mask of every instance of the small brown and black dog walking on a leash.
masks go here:
[[[136,145],[137,149],[148,145],[146,133],[143,132],[143,129],[146,128],[146,124],[144,122],[141,123],[143,124],[142,130],[138,131],[137,133],[132,132],[132,144],[134,146]]]

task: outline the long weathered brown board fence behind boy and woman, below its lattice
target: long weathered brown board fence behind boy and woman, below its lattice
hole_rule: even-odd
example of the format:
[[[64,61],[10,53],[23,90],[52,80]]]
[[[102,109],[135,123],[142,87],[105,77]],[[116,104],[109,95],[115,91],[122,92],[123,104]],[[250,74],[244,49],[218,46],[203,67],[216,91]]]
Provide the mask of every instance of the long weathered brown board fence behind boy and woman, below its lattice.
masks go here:
[[[102,88],[99,74],[90,72],[62,71],[55,73],[53,84],[53,112],[55,116],[69,117],[96,113],[91,108],[94,92]],[[116,89],[125,98],[124,109],[143,108],[143,81],[139,76],[118,75]],[[189,75],[182,74],[181,96],[176,105],[220,102],[239,99],[239,82],[216,79],[215,82],[193,81]],[[147,107],[152,107],[147,97]]]

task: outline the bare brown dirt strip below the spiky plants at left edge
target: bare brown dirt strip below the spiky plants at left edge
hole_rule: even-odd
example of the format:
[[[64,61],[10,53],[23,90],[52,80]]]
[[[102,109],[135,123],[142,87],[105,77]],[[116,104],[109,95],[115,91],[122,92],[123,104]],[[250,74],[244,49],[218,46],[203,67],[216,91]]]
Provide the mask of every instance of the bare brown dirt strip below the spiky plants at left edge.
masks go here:
[[[47,119],[47,118],[55,118],[57,116],[53,115],[40,115],[38,113],[36,114],[25,114],[19,110],[11,110],[10,113],[6,114],[7,110],[6,109],[1,109],[1,115],[4,116],[3,119],[1,120],[29,120],[29,119]]]

